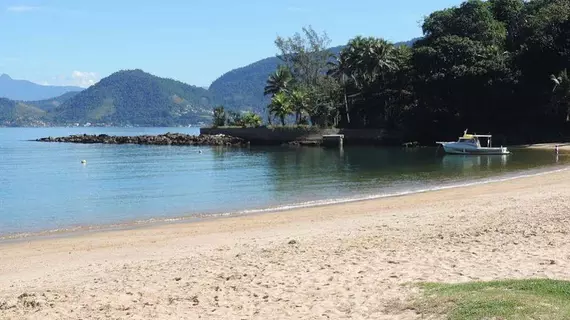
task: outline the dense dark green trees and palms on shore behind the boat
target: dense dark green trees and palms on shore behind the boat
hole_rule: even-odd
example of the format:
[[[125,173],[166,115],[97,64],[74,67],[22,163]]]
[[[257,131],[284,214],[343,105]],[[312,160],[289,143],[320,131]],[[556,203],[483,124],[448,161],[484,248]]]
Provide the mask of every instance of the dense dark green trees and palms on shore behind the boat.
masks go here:
[[[465,128],[511,143],[568,135],[568,1],[469,0],[429,15],[423,32],[411,49],[355,37],[326,72],[321,48],[305,45],[322,40],[311,29],[276,43],[314,125],[399,130],[425,142]]]

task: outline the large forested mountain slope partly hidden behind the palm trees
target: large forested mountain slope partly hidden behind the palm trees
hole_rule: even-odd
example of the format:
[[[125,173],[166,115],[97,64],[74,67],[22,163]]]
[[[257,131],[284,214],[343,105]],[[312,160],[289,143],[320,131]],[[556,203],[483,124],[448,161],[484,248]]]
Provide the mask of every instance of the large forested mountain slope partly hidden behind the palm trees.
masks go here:
[[[412,46],[419,38],[395,43],[396,46]],[[330,48],[337,55],[344,46]],[[232,70],[210,85],[214,103],[228,110],[252,110],[263,114],[269,104],[269,97],[263,95],[263,88],[269,75],[281,63],[278,57],[266,58],[243,68]]]

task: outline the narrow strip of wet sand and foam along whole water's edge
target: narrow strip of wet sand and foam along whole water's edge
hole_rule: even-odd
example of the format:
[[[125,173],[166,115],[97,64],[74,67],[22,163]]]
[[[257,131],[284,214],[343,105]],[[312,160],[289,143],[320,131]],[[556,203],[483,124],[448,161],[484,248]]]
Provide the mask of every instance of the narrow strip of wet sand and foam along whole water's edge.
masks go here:
[[[501,183],[501,182],[505,182],[505,181],[525,179],[525,178],[535,177],[535,176],[556,174],[556,173],[568,171],[568,170],[570,170],[570,165],[564,166],[562,168],[557,168],[556,166],[549,166],[547,168],[522,170],[522,171],[518,171],[518,172],[510,172],[510,173],[506,173],[506,174],[501,174],[501,175],[497,175],[497,176],[493,176],[493,177],[480,178],[480,179],[469,180],[469,181],[460,181],[460,182],[455,182],[452,184],[444,184],[444,185],[437,186],[437,187],[421,188],[421,189],[409,190],[409,191],[399,191],[399,192],[387,193],[387,194],[369,194],[369,195],[360,195],[360,196],[355,196],[355,197],[338,198],[338,199],[313,200],[313,201],[307,201],[307,202],[277,205],[275,207],[236,210],[236,211],[210,213],[210,214],[175,215],[175,216],[171,216],[171,217],[150,218],[150,219],[146,219],[146,220],[123,221],[123,222],[118,222],[118,223],[113,223],[113,224],[95,224],[95,225],[90,224],[90,225],[62,227],[62,228],[51,229],[51,230],[15,232],[15,233],[7,233],[7,234],[1,234],[0,233],[0,245],[3,243],[17,243],[20,241],[33,241],[33,240],[41,240],[41,239],[57,239],[57,238],[63,238],[63,237],[82,236],[84,234],[90,234],[90,233],[104,233],[104,232],[112,232],[112,231],[128,231],[128,230],[136,230],[136,229],[145,229],[145,228],[153,228],[153,227],[159,227],[162,225],[170,225],[170,224],[192,224],[192,223],[199,223],[199,222],[212,221],[212,220],[215,221],[215,220],[219,220],[219,219],[227,219],[227,218],[234,218],[234,217],[245,217],[245,216],[257,216],[257,215],[264,215],[264,214],[285,213],[288,211],[300,210],[300,209],[306,209],[306,208],[328,207],[328,206],[349,204],[349,203],[355,203],[355,202],[357,203],[357,202],[381,200],[381,199],[386,199],[386,198],[413,196],[416,194],[437,192],[437,191],[441,191],[441,190],[461,189],[461,188],[467,188],[467,187],[471,187],[471,186]]]

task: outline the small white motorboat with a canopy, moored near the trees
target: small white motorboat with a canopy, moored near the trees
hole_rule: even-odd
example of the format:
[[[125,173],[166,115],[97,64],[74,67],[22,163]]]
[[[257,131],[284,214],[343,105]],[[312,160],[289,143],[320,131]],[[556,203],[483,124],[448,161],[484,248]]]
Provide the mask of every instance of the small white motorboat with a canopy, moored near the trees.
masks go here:
[[[487,146],[482,147],[480,138],[487,140]],[[490,134],[468,134],[467,130],[463,133],[462,137],[455,142],[437,142],[443,147],[446,153],[449,154],[509,154],[510,151],[506,147],[493,147],[493,136]]]

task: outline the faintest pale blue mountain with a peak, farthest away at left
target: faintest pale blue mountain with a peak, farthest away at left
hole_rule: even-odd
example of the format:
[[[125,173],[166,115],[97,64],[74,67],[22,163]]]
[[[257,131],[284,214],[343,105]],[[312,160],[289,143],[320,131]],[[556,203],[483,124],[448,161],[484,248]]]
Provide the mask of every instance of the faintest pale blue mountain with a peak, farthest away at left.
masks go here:
[[[27,80],[14,80],[7,74],[0,75],[0,97],[11,100],[43,100],[81,90],[80,87],[42,86]]]

